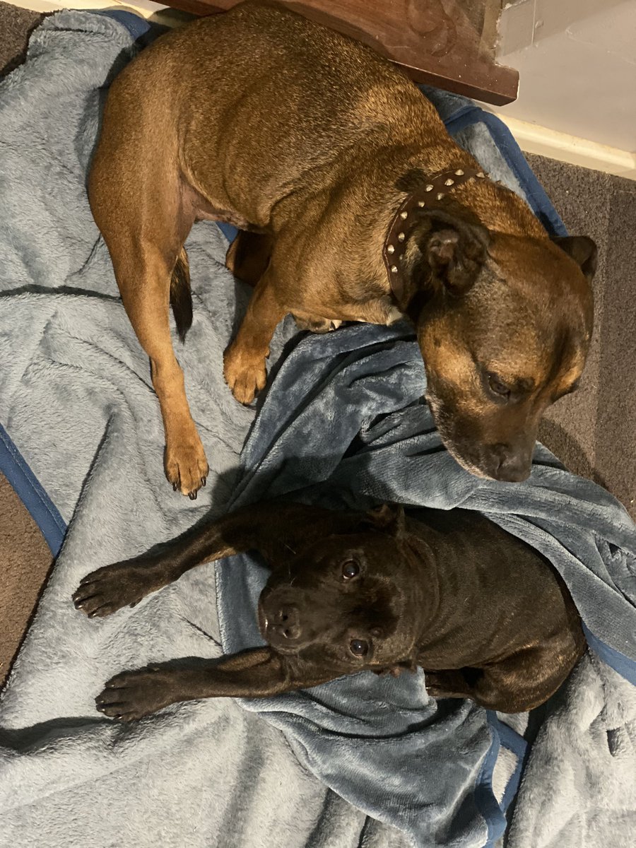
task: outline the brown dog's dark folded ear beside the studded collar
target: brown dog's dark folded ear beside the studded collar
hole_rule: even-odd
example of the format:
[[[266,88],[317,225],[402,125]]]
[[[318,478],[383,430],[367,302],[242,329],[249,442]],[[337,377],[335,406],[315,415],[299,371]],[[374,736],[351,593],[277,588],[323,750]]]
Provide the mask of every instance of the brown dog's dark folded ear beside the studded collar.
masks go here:
[[[488,230],[459,204],[427,209],[417,225],[416,239],[432,276],[450,293],[465,294],[477,280],[488,254]]]

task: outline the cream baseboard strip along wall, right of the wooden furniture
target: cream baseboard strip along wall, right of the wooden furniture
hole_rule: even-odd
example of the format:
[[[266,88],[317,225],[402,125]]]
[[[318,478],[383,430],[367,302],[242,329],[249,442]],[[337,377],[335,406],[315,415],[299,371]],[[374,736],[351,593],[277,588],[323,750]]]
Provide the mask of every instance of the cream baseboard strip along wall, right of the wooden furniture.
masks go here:
[[[602,170],[606,174],[636,180],[636,154],[628,150],[609,148],[605,144],[589,142],[586,138],[569,136],[565,132],[550,130],[545,126],[529,124],[525,120],[509,118],[495,112],[503,120],[517,144],[526,153],[538,153],[550,159],[559,159],[570,165]]]

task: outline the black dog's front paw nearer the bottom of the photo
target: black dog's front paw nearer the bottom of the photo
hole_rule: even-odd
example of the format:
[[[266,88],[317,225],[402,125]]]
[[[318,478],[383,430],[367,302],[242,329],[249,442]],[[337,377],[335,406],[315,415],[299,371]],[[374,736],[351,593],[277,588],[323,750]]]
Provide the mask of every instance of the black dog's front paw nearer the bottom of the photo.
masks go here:
[[[132,722],[178,700],[170,685],[172,672],[148,667],[111,678],[95,704],[105,716]]]

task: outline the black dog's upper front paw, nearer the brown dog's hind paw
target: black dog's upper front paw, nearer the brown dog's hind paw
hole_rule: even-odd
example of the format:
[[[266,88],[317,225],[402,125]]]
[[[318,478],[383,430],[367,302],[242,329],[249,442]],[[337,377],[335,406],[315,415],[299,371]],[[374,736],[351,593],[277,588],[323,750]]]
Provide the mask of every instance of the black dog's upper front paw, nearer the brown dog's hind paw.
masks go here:
[[[76,609],[89,618],[109,616],[123,606],[134,606],[153,589],[153,574],[148,567],[120,562],[86,574],[73,594]]]

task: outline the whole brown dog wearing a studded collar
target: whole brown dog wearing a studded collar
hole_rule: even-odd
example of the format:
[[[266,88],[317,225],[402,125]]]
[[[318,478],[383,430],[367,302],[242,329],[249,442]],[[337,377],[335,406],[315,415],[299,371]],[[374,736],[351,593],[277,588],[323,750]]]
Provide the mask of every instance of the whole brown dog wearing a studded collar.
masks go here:
[[[126,67],[104,109],[89,198],[150,357],[166,476],[191,497],[208,463],[168,310],[170,299],[183,339],[183,243],[198,219],[251,231],[228,257],[256,282],[225,356],[242,403],[264,387],[288,312],[323,332],[408,315],[444,444],[475,474],[522,480],[544,409],[583,371],[594,243],[550,241],[398,70],[276,5],[194,21]]]

